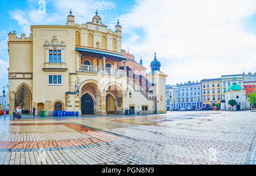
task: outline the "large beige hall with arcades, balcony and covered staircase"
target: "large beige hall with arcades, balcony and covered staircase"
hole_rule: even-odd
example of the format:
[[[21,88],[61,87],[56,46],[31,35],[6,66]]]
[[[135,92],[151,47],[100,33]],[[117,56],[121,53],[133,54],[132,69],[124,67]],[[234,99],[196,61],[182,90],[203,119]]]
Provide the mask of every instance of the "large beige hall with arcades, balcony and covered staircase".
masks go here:
[[[166,74],[146,74],[126,57],[119,22],[112,31],[97,12],[84,24],[76,24],[70,13],[65,26],[31,26],[29,37],[8,33],[10,114],[15,106],[47,115],[56,110],[80,115],[166,112]],[[126,66],[128,61],[137,70]]]

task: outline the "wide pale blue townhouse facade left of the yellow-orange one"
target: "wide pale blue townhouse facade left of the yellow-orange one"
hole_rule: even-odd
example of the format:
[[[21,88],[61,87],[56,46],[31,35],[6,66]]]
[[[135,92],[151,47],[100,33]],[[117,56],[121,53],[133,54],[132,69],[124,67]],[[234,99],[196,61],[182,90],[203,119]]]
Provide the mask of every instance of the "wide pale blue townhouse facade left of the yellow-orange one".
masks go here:
[[[202,107],[202,86],[201,82],[191,82],[176,84],[175,109],[191,110]]]

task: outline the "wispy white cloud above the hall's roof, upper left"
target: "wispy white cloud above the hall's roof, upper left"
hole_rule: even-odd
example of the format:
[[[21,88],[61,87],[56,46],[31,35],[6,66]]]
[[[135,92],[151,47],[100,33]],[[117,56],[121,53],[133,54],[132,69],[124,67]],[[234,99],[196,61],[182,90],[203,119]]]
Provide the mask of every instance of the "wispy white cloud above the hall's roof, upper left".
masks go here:
[[[86,23],[92,20],[96,10],[106,10],[114,8],[114,4],[109,1],[93,1],[93,0],[73,0],[73,1],[46,1],[46,14],[38,11],[38,1],[30,0],[29,8],[27,10],[11,10],[10,15],[15,19],[19,26],[22,27],[22,32],[28,35],[30,33],[31,25],[40,24],[59,24],[65,25],[67,23],[67,16],[70,9],[73,9],[75,15],[75,23]],[[101,14],[103,19],[105,16]]]

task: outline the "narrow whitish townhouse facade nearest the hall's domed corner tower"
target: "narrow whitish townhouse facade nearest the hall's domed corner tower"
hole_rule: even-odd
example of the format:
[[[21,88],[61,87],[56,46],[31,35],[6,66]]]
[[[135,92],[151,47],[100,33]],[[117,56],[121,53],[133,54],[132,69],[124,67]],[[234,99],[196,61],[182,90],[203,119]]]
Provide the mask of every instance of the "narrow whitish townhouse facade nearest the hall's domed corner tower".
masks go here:
[[[177,87],[174,85],[166,85],[166,110],[174,110],[176,100]]]

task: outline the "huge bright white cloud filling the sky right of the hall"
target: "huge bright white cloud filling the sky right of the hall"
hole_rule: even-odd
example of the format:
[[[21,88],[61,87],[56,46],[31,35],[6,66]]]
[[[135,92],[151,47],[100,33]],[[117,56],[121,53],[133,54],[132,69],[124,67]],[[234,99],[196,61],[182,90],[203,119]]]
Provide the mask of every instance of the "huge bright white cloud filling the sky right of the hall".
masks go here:
[[[123,48],[144,56],[146,67],[156,51],[167,83],[255,72],[256,37],[242,26],[254,14],[252,0],[137,1],[119,19],[123,33],[141,28],[144,36],[132,34]]]

